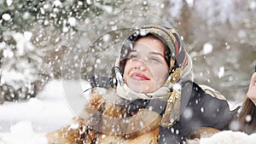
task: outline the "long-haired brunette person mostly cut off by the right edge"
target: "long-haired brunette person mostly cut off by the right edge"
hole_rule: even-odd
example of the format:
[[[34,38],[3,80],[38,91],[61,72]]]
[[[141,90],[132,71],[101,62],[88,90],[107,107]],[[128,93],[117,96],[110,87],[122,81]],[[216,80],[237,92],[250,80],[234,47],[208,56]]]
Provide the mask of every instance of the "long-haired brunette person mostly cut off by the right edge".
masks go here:
[[[256,67],[251,78],[251,83],[247,91],[247,98],[244,101],[239,114],[240,129],[247,134],[256,131]]]

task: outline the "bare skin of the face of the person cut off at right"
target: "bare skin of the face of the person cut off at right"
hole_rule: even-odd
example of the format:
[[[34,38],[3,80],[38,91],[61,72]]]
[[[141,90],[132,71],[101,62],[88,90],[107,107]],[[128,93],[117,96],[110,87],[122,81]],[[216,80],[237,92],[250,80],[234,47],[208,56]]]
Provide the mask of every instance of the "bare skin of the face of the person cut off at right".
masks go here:
[[[247,97],[253,101],[254,105],[256,105],[256,72],[253,73],[251,78],[251,83],[247,91]]]

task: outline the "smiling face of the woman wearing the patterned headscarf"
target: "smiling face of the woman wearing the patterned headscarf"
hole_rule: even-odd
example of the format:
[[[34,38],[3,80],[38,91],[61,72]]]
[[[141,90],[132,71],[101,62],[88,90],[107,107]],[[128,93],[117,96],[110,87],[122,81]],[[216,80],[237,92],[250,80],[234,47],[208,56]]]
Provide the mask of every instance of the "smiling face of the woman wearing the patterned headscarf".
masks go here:
[[[169,67],[165,60],[166,45],[148,36],[137,40],[125,64],[124,80],[138,93],[152,93],[166,82]]]

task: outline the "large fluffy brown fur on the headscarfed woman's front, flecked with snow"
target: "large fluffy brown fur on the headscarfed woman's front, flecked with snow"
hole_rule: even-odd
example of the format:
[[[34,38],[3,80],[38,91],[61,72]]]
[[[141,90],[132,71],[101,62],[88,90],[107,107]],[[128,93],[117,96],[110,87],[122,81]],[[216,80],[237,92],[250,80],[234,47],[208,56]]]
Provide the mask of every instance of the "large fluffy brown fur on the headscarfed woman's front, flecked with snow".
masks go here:
[[[94,91],[84,112],[73,119],[73,124],[46,136],[49,144],[157,143],[161,119],[157,112],[141,109],[127,116],[124,105],[108,102]]]

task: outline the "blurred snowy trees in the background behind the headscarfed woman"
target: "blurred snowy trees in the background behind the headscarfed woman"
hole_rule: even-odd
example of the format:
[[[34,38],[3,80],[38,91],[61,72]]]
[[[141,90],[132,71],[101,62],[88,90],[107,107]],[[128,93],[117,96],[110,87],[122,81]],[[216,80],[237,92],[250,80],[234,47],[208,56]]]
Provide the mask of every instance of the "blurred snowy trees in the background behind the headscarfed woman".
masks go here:
[[[127,10],[145,21],[122,15]],[[175,27],[193,59],[195,81],[240,101],[256,64],[255,12],[255,0],[0,1],[0,102],[34,97],[52,78],[106,72],[119,52],[105,43],[121,43],[119,27],[127,23]]]

